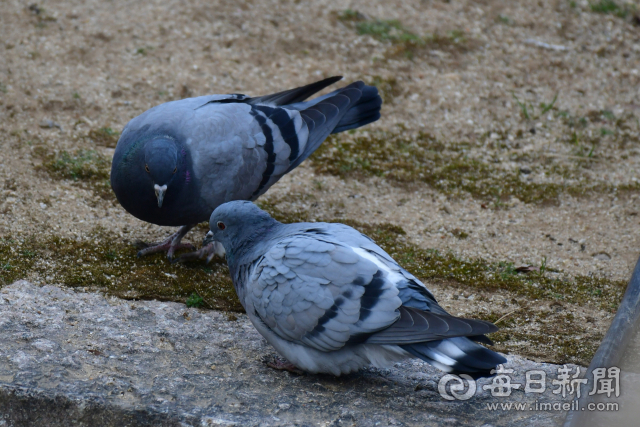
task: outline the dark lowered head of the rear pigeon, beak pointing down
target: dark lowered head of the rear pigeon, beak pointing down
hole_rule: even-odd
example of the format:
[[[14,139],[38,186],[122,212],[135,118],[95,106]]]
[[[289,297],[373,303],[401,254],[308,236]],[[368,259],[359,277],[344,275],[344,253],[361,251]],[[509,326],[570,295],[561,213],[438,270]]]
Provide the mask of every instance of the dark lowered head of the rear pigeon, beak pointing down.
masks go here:
[[[169,138],[156,138],[148,141],[144,145],[144,170],[151,178],[158,207],[161,208],[167,187],[178,175],[178,147],[176,143]]]

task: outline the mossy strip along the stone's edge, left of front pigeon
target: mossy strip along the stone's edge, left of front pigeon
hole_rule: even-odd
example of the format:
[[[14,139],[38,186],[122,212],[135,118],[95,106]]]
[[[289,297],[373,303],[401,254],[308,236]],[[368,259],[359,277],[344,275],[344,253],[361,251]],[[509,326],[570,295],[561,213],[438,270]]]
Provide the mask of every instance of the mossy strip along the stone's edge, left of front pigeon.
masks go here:
[[[136,257],[136,248],[103,230],[76,241],[49,236],[0,240],[0,284],[26,278],[97,290],[126,299],[195,302],[242,311],[223,260],[169,264],[162,254]]]

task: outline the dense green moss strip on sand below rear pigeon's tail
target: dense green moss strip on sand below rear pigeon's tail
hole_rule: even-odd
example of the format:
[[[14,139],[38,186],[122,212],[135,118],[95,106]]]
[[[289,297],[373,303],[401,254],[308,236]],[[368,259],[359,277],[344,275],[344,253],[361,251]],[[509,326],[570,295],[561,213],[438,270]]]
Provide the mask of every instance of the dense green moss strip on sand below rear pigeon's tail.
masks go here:
[[[525,203],[555,200],[563,186],[520,179],[518,171],[498,169],[469,157],[469,144],[444,144],[428,134],[367,133],[353,138],[331,136],[311,156],[319,173],[341,177],[361,174],[398,183],[422,181],[445,194],[468,193],[497,202],[515,196]]]

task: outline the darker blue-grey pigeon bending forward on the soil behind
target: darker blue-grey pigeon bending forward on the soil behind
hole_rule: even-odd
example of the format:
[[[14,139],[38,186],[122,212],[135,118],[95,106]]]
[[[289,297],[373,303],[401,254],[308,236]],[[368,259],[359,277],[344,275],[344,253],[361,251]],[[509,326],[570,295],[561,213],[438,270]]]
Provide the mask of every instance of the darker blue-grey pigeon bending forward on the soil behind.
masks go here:
[[[361,81],[306,101],[342,77],[272,95],[209,95],[167,102],[132,119],[113,155],[111,187],[133,216],[180,226],[138,256],[192,249],[182,238],[231,200],[255,200],[331,133],[380,118],[378,90]],[[221,254],[216,242],[179,260]],[[222,252],[223,253],[223,252]]]

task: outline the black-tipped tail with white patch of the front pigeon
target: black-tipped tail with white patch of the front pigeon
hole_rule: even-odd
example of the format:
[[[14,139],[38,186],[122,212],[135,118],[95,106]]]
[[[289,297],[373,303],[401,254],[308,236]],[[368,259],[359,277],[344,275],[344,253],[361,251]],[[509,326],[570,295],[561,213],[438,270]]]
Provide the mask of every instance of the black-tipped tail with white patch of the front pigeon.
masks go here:
[[[401,345],[402,349],[445,372],[490,375],[505,359],[466,337]]]

